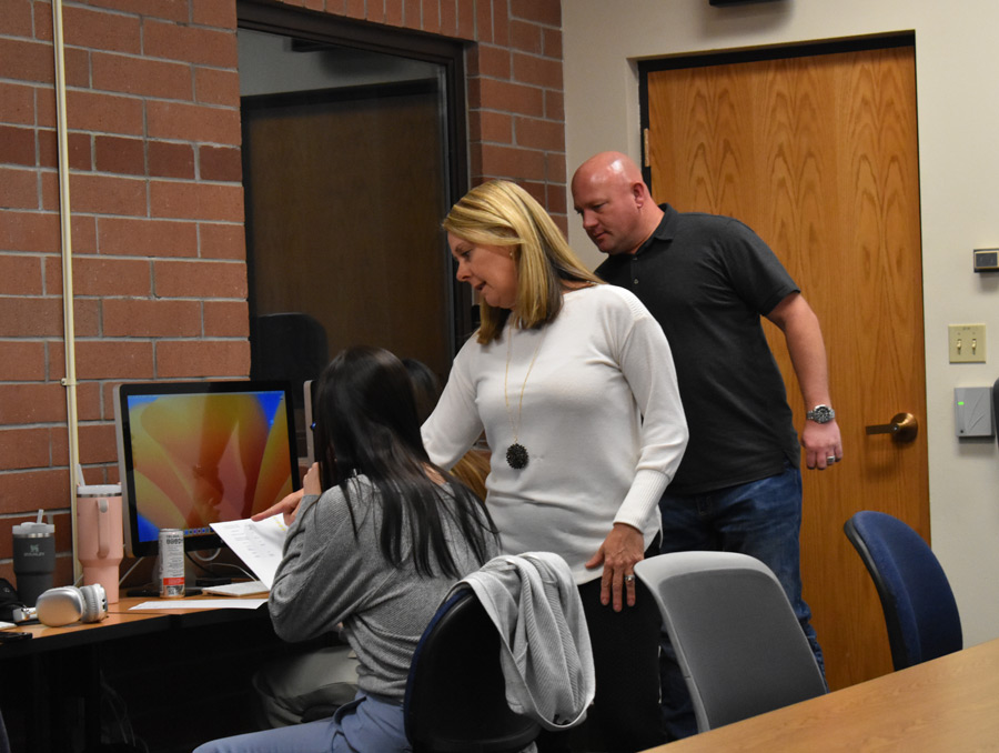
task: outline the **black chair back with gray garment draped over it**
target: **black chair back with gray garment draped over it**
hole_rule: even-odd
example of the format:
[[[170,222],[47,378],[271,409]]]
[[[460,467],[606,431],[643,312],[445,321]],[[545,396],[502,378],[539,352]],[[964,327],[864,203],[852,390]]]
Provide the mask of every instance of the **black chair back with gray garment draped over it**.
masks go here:
[[[424,631],[404,709],[414,753],[514,753],[541,732],[509,710],[500,634],[471,589],[452,595]]]

